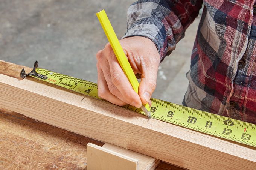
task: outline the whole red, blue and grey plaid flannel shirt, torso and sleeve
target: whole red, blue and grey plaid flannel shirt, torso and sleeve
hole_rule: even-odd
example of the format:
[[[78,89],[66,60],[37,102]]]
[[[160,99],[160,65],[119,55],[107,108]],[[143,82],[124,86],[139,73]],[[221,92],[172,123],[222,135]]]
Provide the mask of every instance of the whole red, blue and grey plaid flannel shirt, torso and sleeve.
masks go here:
[[[255,0],[140,0],[122,38],[151,39],[163,61],[203,2],[183,105],[256,124]]]

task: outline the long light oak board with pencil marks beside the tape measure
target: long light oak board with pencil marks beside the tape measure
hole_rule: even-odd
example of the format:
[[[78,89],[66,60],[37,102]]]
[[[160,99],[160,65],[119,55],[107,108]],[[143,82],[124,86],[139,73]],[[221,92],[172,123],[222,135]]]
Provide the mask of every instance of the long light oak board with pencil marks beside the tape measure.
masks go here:
[[[0,107],[188,169],[254,169],[256,148],[182,128],[109,102],[0,74]]]

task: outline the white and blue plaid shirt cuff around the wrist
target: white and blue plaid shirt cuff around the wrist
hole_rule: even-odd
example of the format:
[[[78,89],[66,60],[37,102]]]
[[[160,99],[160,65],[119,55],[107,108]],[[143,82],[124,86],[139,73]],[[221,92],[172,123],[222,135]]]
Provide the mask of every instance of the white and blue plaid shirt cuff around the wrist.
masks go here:
[[[143,36],[151,39],[157,47],[160,62],[162,62],[167,53],[167,36],[162,21],[154,17],[142,18],[134,22],[121,39],[131,36]]]

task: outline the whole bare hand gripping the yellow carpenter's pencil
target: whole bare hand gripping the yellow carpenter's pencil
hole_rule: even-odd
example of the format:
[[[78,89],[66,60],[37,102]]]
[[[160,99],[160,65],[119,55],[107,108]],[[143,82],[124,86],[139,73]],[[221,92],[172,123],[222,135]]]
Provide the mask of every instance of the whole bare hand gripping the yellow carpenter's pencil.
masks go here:
[[[130,104],[140,108],[151,105],[150,97],[156,87],[157,71],[160,63],[157,48],[150,39],[134,36],[120,40],[120,44],[130,62],[134,74],[141,74],[139,95],[133,90],[119,62],[108,43],[98,51],[98,96],[113,104]]]

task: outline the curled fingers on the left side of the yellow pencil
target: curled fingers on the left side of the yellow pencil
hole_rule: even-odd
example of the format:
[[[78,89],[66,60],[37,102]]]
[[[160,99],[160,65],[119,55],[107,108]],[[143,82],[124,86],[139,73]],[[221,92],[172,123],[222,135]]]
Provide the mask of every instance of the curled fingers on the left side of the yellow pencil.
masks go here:
[[[130,104],[140,108],[140,96],[133,90],[112,49],[108,50],[106,45],[97,53],[97,60],[98,95],[116,105]]]

